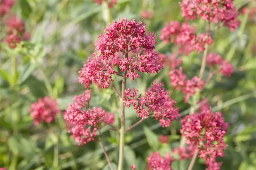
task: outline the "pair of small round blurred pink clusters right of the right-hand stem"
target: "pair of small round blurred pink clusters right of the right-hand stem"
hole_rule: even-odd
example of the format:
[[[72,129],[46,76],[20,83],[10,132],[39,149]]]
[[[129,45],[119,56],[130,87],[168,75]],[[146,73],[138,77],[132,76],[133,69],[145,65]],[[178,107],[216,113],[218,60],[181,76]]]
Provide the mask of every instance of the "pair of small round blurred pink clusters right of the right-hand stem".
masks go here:
[[[234,72],[234,67],[227,60],[222,60],[221,56],[214,53],[209,53],[207,55],[207,64],[210,67],[220,65],[220,73],[224,76],[230,77]]]

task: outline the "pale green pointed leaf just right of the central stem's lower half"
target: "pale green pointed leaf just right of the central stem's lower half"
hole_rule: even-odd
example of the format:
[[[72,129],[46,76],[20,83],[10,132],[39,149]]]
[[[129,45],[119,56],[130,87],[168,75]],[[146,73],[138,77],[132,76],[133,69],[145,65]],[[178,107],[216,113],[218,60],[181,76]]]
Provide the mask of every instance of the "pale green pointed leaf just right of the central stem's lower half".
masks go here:
[[[143,129],[144,129],[144,133],[145,133],[146,139],[148,141],[148,145],[150,146],[151,149],[156,151],[159,148],[159,146],[160,146],[158,135],[156,135],[147,126],[144,126]]]

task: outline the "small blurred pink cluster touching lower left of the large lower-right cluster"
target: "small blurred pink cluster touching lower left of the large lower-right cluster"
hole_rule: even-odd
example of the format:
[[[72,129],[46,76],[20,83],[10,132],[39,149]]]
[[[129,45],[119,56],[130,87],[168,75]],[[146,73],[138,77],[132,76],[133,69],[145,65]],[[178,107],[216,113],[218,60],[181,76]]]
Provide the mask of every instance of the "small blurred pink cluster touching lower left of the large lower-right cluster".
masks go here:
[[[175,149],[173,149],[173,153],[176,155],[179,155],[180,158],[179,160],[186,160],[186,159],[192,159],[194,153],[196,151],[196,147],[195,146],[185,146],[185,147],[177,147]]]

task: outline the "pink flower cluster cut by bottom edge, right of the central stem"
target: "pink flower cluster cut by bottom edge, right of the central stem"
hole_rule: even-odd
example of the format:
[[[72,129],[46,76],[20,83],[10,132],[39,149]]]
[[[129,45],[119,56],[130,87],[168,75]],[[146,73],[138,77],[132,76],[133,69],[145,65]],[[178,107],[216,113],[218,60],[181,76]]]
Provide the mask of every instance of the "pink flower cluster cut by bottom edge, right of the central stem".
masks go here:
[[[173,161],[174,159],[172,159],[169,153],[167,153],[164,158],[159,152],[153,152],[148,157],[147,170],[172,170],[171,165]]]

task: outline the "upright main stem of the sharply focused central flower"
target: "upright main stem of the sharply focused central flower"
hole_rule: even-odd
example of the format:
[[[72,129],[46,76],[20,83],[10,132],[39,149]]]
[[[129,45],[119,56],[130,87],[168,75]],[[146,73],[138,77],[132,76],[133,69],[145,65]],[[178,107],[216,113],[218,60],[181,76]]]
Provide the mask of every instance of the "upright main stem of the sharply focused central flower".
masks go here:
[[[128,51],[125,52],[125,58],[128,59]],[[124,164],[124,136],[125,136],[125,112],[124,112],[124,90],[126,89],[126,75],[127,71],[124,71],[124,77],[122,80],[122,93],[121,93],[121,128],[120,128],[120,142],[119,142],[119,159],[117,170],[123,170]]]

